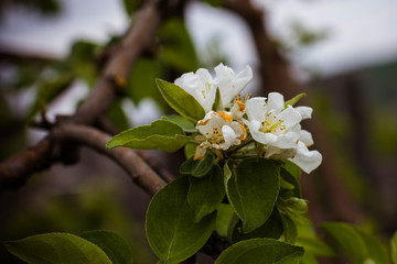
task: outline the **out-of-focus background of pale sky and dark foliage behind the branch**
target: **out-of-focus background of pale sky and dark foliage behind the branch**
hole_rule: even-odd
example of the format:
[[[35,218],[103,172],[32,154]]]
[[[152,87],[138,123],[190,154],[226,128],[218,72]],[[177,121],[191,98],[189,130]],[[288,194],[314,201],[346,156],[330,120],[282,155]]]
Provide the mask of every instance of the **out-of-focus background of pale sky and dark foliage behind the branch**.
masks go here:
[[[301,103],[314,109],[303,127],[324,160],[301,178],[313,222],[357,223],[386,241],[397,230],[397,2],[251,0],[259,22],[222,2],[190,1],[163,23],[132,69],[127,95],[108,112],[112,125],[125,130],[171,111],[154,78],[248,64],[255,74],[246,92],[278,90],[289,99],[304,91]],[[29,125],[41,112],[54,121],[75,111],[139,6],[0,1],[0,161],[45,135]],[[253,30],[260,26],[266,42]],[[262,51],[275,56],[264,61]],[[183,154],[149,154],[178,174]],[[0,241],[107,229],[129,241],[135,263],[154,263],[143,229],[149,201],[111,161],[83,150],[77,165],[55,165],[0,194]],[[19,263],[2,245],[0,262]]]

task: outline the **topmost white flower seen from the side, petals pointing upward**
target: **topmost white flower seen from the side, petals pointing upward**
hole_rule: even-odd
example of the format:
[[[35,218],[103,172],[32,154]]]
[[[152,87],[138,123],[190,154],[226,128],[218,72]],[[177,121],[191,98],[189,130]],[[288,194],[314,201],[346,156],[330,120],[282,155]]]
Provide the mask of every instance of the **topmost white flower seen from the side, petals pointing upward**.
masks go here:
[[[215,67],[216,77],[213,78],[207,69],[200,68],[195,73],[183,74],[175,79],[175,85],[192,95],[204,108],[205,112],[212,110],[219,88],[223,109],[230,107],[232,100],[253,79],[253,70],[246,66],[243,72],[235,76],[232,68],[219,64]]]

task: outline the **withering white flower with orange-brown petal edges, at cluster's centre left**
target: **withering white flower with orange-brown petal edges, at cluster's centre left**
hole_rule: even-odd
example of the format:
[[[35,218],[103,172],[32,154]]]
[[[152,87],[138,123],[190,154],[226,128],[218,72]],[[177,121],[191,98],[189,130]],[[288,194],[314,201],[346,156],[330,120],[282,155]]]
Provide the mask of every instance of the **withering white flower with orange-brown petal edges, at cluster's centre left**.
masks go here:
[[[210,111],[203,120],[197,122],[196,128],[206,138],[206,141],[196,147],[194,160],[203,158],[208,147],[228,150],[233,145],[240,144],[247,138],[245,128],[232,119],[230,113]]]

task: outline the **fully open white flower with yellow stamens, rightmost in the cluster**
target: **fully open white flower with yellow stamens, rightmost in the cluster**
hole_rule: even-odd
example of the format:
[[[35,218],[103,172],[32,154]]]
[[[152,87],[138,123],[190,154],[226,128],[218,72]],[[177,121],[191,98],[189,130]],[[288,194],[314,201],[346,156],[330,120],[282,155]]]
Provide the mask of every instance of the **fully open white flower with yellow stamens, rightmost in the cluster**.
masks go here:
[[[305,173],[321,164],[321,154],[308,150],[313,144],[311,133],[300,127],[301,120],[311,118],[312,108],[285,108],[283,97],[270,92],[267,102],[264,97],[249,99],[246,111],[249,131],[254,140],[264,144],[266,158],[288,158]]]

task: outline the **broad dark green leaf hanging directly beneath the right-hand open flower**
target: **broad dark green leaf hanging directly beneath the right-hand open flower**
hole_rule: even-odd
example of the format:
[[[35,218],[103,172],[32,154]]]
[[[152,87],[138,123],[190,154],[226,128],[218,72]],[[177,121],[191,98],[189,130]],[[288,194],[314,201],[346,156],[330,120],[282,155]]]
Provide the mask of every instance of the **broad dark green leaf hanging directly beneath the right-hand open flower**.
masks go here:
[[[272,212],[280,188],[278,168],[271,161],[254,157],[224,172],[227,198],[243,220],[243,232],[251,232]]]

